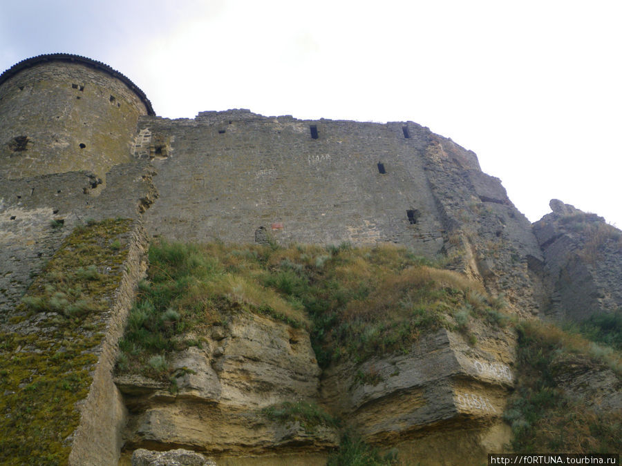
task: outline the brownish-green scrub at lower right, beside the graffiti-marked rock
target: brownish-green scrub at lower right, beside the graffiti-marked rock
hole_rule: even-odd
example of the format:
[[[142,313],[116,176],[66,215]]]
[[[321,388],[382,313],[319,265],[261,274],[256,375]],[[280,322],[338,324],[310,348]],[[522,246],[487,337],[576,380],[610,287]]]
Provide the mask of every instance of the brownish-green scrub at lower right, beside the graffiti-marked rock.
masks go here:
[[[612,318],[620,322],[619,316]],[[605,319],[612,322],[611,318]],[[588,329],[591,327],[587,327]],[[619,340],[622,328],[614,329]],[[594,344],[578,333],[545,322],[521,322],[519,374],[506,420],[516,452],[612,453],[622,449],[622,413],[596,411],[569,398],[556,376],[577,361],[622,374],[622,358],[612,347]]]

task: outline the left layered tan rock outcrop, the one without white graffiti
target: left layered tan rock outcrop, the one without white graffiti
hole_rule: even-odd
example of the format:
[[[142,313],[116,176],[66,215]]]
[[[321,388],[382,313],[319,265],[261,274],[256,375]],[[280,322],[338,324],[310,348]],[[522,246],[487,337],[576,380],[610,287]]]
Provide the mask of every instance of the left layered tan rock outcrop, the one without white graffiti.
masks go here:
[[[218,456],[315,453],[336,447],[333,428],[281,425],[262,409],[317,400],[321,373],[309,334],[259,315],[194,332],[202,347],[170,356],[175,385],[140,376],[116,382],[130,411],[126,448],[185,447]],[[187,338],[182,335],[180,338]]]

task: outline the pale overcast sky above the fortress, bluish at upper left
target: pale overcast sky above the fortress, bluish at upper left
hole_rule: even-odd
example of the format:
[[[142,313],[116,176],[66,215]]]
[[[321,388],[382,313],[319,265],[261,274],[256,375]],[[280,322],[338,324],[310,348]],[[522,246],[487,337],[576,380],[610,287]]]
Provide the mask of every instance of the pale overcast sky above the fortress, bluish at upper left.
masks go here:
[[[558,198],[621,228],[621,24],[621,0],[0,0],[0,71],[68,52],[162,117],[411,120],[529,220]]]

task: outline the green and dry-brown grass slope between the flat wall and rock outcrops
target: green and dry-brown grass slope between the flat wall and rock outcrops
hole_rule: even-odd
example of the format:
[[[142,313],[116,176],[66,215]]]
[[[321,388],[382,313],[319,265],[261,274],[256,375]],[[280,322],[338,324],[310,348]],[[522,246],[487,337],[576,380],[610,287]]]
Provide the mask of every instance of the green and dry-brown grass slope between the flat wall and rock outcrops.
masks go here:
[[[422,332],[440,327],[468,331],[466,320],[490,320],[500,305],[488,300],[480,283],[390,245],[160,242],[151,246],[149,260],[117,370],[157,378],[167,377],[168,353],[200,344],[179,338],[183,333],[226,324],[232,313],[305,327],[325,367],[343,357],[407,351]]]

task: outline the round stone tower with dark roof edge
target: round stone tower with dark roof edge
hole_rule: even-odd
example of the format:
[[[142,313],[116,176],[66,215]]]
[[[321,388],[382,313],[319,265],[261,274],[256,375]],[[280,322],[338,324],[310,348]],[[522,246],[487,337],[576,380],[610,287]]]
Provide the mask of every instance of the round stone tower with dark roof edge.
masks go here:
[[[144,93],[110,66],[77,55],[40,55],[0,75],[0,174],[15,179],[130,162]]]

